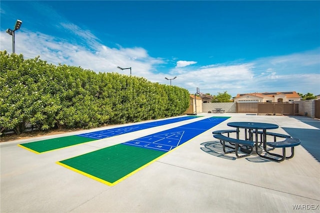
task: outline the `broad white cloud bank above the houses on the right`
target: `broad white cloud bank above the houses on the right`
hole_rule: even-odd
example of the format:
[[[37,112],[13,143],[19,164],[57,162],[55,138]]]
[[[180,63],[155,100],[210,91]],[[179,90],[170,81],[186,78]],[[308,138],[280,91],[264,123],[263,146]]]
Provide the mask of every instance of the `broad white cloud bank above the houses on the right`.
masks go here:
[[[246,92],[296,91],[320,94],[319,49],[290,55],[258,58],[249,63],[209,64],[188,69],[173,68],[174,85],[195,92],[232,96]],[[172,81],[173,84],[173,81]]]

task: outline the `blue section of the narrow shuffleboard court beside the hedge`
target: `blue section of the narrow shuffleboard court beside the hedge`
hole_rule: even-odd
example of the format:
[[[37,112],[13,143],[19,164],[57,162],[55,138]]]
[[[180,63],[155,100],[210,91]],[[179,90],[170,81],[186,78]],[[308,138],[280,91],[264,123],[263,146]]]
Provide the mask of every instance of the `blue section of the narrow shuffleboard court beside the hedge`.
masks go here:
[[[95,131],[95,132],[89,132],[89,133],[83,133],[79,134],[77,136],[81,137],[86,137],[86,138],[93,138],[93,139],[103,139],[103,138],[109,138],[113,137],[116,135],[122,135],[125,133],[129,132],[134,132],[142,129],[148,129],[152,127],[157,127],[165,124],[171,124],[179,121],[185,121],[193,118],[198,118],[202,116],[184,116],[184,117],[179,117],[179,118],[171,118],[171,119],[166,119],[166,120],[161,120],[161,121],[153,121],[149,123],[143,123],[143,124],[135,124],[135,125],[130,125],[126,127],[119,127],[119,128],[112,128],[112,129],[107,129],[107,130],[100,130],[100,131]]]

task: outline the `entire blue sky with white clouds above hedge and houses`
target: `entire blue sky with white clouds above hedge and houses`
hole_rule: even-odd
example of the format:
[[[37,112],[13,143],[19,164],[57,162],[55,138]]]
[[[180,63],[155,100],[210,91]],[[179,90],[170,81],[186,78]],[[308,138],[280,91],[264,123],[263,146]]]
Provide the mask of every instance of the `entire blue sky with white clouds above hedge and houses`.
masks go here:
[[[216,95],[320,94],[320,1],[0,2],[0,50]]]

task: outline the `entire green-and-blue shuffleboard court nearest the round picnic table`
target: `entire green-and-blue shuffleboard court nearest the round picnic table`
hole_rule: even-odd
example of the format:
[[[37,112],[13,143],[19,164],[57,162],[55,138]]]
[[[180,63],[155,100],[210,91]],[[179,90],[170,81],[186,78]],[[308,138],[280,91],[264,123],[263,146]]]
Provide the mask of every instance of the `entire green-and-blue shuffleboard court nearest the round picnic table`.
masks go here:
[[[57,162],[113,186],[229,117],[210,117]]]

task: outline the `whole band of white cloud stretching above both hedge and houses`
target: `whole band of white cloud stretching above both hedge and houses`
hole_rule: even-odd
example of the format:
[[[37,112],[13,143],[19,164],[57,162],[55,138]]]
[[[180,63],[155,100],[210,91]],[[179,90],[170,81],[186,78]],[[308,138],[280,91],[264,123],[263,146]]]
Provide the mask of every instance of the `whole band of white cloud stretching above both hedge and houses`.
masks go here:
[[[226,63],[189,66],[196,61],[177,61],[176,66],[168,68],[168,73],[157,72],[156,67],[166,65],[169,59],[151,57],[142,47],[124,48],[120,45],[110,48],[101,44],[89,31],[80,32],[80,40],[90,39],[89,45],[70,42],[66,39],[30,32],[18,31],[15,37],[15,51],[23,53],[24,58],[40,59],[53,64],[81,66],[96,72],[118,72],[129,75],[129,70],[116,67],[132,67],[132,75],[144,77],[152,82],[169,84],[164,77],[171,78],[172,85],[183,87],[190,93],[217,94],[227,91],[231,96],[245,92],[297,91],[320,94],[319,49],[278,57],[266,57],[248,63]],[[11,52],[12,37],[0,32],[0,50]]]

